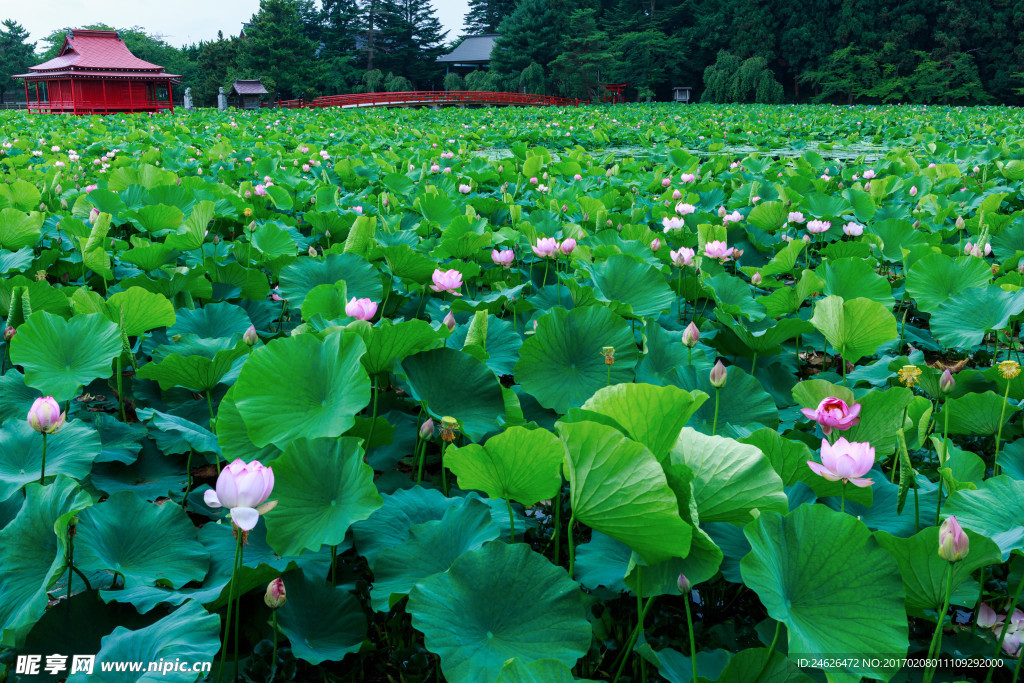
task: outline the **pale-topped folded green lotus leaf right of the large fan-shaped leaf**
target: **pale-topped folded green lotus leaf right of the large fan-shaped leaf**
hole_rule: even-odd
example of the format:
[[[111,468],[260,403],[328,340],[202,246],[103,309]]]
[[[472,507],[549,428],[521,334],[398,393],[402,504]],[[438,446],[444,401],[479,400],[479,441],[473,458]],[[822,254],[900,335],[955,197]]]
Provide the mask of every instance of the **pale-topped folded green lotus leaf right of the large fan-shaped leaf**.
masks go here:
[[[693,497],[702,522],[745,524],[751,512],[788,510],[782,479],[761,450],[686,427],[669,455],[693,472]]]

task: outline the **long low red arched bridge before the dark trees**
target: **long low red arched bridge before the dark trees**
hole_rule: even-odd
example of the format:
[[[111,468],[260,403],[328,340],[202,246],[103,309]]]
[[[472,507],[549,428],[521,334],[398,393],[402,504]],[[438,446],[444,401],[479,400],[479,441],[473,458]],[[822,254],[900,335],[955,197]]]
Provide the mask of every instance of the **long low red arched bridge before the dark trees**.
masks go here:
[[[481,90],[417,90],[413,92],[359,92],[350,95],[327,95],[315,99],[286,99],[278,106],[316,109],[340,106],[579,106],[579,99],[530,95],[521,92]]]

